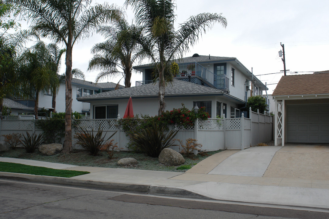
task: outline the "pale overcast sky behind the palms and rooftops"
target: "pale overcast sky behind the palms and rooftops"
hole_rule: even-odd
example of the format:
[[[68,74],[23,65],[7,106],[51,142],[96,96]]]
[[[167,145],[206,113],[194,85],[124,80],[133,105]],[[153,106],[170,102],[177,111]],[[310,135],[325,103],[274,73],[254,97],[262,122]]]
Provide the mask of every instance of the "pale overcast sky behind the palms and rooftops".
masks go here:
[[[94,2],[103,3],[103,0]],[[124,0],[108,1],[123,6]],[[186,21],[199,13],[222,13],[227,19],[227,28],[220,24],[202,35],[200,41],[184,57],[199,55],[236,57],[246,68],[265,84],[277,83],[283,73],[283,63],[278,51],[285,45],[286,68],[289,72],[329,70],[329,1],[317,0],[177,0],[177,23]],[[132,20],[131,9],[126,10],[127,19]],[[91,47],[104,41],[96,34],[73,47],[73,68],[85,72],[86,80],[95,81],[98,72],[88,72]],[[62,72],[65,71],[64,56]],[[291,73],[288,73],[290,75]],[[141,74],[132,77],[142,80]],[[117,83],[118,78],[104,80]],[[311,82],[305,82],[311,83]],[[123,80],[121,83],[123,84]],[[271,94],[276,84],[269,85]]]

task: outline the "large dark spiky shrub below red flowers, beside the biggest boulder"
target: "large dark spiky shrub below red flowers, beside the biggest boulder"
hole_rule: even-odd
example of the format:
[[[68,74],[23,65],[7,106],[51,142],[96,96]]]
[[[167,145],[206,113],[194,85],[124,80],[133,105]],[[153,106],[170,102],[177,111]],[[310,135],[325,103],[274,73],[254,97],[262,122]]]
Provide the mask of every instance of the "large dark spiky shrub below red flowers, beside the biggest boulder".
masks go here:
[[[141,152],[145,152],[151,157],[159,157],[160,152],[164,148],[176,146],[171,143],[171,140],[175,137],[178,131],[179,130],[171,130],[165,134],[164,126],[153,122],[151,127],[146,127],[130,134],[130,139],[132,144],[134,144]]]

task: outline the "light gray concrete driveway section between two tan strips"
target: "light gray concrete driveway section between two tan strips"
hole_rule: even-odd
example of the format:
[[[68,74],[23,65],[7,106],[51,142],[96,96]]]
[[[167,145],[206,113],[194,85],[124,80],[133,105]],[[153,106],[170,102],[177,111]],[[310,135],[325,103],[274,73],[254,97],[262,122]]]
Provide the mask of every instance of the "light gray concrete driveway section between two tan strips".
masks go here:
[[[209,174],[262,177],[276,151],[282,147],[251,147],[217,165]]]

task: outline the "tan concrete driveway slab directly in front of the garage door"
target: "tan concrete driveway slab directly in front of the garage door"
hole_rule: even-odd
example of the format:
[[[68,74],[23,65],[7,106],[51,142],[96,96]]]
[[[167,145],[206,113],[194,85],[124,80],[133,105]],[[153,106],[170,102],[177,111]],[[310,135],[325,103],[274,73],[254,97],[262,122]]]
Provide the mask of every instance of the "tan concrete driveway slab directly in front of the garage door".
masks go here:
[[[277,151],[263,177],[329,179],[329,144],[287,144]]]

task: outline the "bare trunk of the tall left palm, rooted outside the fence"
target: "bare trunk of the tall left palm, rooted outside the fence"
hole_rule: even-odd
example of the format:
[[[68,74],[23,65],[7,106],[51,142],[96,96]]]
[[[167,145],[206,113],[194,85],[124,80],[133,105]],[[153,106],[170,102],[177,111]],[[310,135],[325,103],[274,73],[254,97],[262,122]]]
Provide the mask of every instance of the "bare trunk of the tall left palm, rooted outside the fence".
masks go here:
[[[66,47],[65,65],[65,137],[63,152],[70,152],[72,150],[72,46]]]

